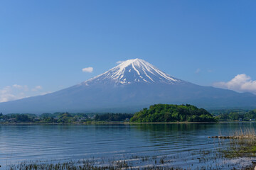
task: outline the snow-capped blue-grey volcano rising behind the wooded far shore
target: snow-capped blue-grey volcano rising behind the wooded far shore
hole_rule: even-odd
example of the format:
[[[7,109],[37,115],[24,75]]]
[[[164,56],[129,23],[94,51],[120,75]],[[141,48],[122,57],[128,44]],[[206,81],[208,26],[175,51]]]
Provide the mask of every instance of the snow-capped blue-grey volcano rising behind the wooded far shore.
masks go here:
[[[192,84],[135,59],[67,89],[0,103],[0,111],[133,113],[155,103],[189,103],[208,109],[256,108],[256,96]]]

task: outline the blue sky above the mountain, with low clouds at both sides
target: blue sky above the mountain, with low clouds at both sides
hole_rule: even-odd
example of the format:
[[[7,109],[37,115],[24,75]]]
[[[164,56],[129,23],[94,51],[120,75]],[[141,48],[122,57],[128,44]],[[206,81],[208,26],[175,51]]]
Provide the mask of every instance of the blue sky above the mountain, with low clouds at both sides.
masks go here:
[[[73,86],[133,58],[195,84],[256,93],[255,8],[256,1],[3,0],[0,102]]]

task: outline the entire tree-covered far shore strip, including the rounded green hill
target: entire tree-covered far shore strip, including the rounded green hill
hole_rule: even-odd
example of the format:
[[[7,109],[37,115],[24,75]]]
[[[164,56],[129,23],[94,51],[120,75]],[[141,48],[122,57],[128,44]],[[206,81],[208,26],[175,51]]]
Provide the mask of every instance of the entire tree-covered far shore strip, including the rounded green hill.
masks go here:
[[[43,113],[6,114],[0,113],[0,123],[174,123],[174,122],[218,122],[254,121],[256,109],[220,110],[210,114],[203,108],[189,104],[156,104],[137,113]]]

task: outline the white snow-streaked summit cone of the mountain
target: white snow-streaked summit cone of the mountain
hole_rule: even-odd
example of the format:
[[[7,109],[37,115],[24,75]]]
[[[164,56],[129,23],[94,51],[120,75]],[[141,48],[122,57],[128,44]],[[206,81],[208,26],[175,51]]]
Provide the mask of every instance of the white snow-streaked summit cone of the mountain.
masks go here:
[[[115,84],[132,84],[138,82],[174,84],[181,82],[181,80],[171,77],[149,62],[137,58],[124,61],[109,71],[85,81],[84,84],[109,84],[112,82]]]

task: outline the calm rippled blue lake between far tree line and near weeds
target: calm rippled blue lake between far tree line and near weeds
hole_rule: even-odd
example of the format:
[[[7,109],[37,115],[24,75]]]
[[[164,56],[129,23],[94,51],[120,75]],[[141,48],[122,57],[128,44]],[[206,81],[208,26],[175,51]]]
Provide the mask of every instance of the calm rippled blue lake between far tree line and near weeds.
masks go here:
[[[255,128],[256,123],[107,124],[107,125],[0,125],[0,169],[21,162],[65,162],[94,159],[104,165],[127,160],[134,166],[174,166],[230,169],[254,158],[217,158],[218,140]],[[161,159],[164,162],[161,162]]]

